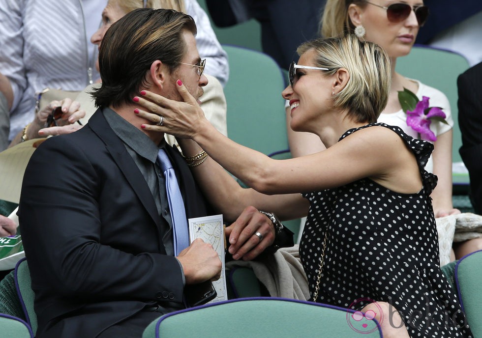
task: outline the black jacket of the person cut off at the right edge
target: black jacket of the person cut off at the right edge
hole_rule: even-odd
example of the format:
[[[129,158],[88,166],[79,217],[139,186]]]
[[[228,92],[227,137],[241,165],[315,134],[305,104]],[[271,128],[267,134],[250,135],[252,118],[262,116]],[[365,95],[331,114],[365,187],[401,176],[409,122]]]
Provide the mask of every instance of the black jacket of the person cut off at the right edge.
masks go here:
[[[460,156],[469,169],[472,204],[482,213],[482,63],[457,79],[458,125],[462,133]]]

